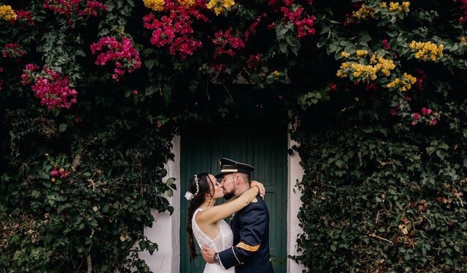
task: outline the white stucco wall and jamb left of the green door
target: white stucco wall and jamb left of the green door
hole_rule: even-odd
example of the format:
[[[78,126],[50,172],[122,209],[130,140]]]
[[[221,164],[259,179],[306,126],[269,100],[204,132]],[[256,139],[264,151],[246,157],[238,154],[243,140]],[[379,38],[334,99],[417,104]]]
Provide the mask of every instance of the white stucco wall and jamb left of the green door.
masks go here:
[[[180,136],[172,139],[172,153],[174,160],[169,160],[164,168],[167,170],[168,178],[176,178],[175,185],[180,189]],[[158,251],[153,255],[149,252],[140,252],[141,259],[146,261],[152,272],[155,273],[178,273],[180,265],[180,191],[173,191],[173,196],[168,198],[170,205],[174,207],[173,214],[168,212],[158,213],[153,209],[156,219],[153,227],[145,227],[144,234],[149,240],[159,245]]]

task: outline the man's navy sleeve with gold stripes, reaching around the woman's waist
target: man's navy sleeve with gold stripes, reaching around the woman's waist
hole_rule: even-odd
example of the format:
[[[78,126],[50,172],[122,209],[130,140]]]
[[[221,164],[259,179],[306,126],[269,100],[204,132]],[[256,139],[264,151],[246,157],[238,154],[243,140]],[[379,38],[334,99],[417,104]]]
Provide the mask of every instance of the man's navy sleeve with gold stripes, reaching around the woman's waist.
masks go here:
[[[261,237],[266,230],[267,215],[261,205],[251,203],[239,214],[240,242],[222,252],[219,252],[219,262],[225,268],[247,263],[258,251]]]

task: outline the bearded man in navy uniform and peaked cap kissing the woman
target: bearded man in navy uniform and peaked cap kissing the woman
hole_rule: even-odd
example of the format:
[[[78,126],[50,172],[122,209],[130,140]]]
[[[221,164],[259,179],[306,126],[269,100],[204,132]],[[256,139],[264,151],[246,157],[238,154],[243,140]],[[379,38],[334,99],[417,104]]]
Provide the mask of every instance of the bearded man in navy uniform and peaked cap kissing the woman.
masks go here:
[[[250,175],[254,168],[248,164],[221,158],[221,173],[225,199],[238,197],[250,188]],[[231,220],[233,247],[219,253],[203,247],[201,254],[210,264],[219,264],[225,269],[235,267],[236,273],[273,273],[269,257],[269,211],[258,195],[244,208],[234,213]]]

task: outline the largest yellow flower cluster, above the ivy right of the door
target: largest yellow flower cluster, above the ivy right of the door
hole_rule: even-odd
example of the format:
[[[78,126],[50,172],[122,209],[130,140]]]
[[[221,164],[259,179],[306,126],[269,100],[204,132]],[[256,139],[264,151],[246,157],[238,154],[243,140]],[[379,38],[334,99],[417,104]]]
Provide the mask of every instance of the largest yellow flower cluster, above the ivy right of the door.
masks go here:
[[[357,50],[357,57],[370,55],[366,50]],[[345,62],[342,63],[336,75],[338,77],[348,77],[352,74],[354,77],[368,78],[375,80],[378,73],[381,72],[385,76],[390,75],[390,71],[395,68],[394,62],[383,57],[377,57],[375,53],[371,54],[370,65],[360,63]]]

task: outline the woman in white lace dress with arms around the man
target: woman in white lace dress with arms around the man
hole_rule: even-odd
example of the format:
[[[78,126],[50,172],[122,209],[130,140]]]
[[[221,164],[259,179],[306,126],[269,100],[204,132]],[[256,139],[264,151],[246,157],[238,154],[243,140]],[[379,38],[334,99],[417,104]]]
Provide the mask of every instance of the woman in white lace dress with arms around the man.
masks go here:
[[[216,252],[232,247],[233,233],[224,219],[250,204],[258,193],[264,196],[265,189],[261,183],[252,181],[251,188],[238,198],[222,205],[214,205],[216,200],[224,197],[224,193],[224,187],[212,174],[201,173],[190,179],[188,192],[185,195],[185,198],[190,201],[186,227],[190,261],[196,258],[193,235],[200,247],[208,246]],[[203,273],[225,272],[234,273],[235,268],[226,270],[221,265],[206,264],[203,271]]]

